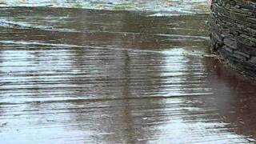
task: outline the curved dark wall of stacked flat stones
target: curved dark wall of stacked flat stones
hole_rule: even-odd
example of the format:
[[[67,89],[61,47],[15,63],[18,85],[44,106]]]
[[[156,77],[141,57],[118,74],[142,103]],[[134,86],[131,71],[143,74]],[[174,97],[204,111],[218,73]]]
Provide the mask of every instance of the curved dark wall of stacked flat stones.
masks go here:
[[[256,1],[213,0],[212,49],[236,69],[256,77]]]

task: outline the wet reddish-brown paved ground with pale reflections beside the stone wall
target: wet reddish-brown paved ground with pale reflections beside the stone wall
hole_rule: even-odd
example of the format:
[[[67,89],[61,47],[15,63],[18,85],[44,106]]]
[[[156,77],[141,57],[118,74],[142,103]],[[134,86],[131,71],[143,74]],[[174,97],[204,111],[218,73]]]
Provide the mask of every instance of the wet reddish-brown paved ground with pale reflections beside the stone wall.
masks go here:
[[[1,143],[255,142],[255,84],[207,14],[0,9]]]

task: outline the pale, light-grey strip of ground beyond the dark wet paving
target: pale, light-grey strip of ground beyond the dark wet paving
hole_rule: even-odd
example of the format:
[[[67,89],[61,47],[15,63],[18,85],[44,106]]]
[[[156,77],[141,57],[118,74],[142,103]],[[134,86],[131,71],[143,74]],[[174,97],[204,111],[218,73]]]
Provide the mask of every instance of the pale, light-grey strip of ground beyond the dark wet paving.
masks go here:
[[[155,11],[158,15],[204,14],[210,0],[1,0],[1,6],[44,6],[93,10]]]

